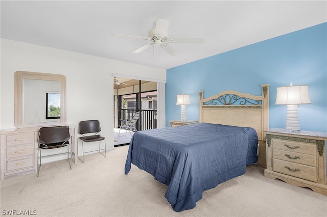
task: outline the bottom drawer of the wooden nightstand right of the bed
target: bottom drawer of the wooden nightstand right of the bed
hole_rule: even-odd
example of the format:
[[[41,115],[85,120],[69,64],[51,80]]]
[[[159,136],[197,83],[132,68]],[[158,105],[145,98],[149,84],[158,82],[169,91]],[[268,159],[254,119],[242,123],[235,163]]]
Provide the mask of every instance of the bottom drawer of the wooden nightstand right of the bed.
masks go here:
[[[272,170],[278,173],[317,182],[317,169],[315,167],[273,158]]]

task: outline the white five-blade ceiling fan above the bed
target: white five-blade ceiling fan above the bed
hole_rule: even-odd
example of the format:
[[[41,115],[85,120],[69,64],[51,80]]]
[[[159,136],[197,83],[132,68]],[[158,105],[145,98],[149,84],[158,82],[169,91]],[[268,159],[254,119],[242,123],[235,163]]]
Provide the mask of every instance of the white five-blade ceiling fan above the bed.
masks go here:
[[[155,24],[155,29],[149,31],[148,37],[124,35],[124,34],[116,34],[116,33],[112,33],[111,35],[128,37],[128,38],[138,38],[138,39],[144,39],[150,41],[150,43],[145,44],[137,48],[136,50],[133,50],[132,52],[138,53],[153,45],[153,56],[154,56],[154,47],[155,47],[154,45],[158,45],[164,48],[172,56],[177,56],[178,52],[172,46],[169,45],[170,43],[200,44],[204,42],[203,38],[169,38],[167,34],[169,22],[167,20],[157,19],[156,21],[154,21],[154,24]]]

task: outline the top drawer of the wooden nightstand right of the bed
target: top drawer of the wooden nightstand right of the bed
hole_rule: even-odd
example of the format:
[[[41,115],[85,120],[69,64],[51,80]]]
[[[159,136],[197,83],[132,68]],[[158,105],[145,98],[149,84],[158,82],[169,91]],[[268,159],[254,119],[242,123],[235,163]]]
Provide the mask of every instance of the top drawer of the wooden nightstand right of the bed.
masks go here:
[[[310,143],[272,139],[272,147],[286,151],[316,155],[316,146]]]

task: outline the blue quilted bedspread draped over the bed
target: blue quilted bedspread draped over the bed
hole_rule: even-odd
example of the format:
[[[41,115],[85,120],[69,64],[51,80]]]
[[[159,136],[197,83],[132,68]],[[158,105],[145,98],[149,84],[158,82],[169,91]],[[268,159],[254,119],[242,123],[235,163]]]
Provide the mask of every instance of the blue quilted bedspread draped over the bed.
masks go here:
[[[192,209],[202,192],[245,173],[257,161],[253,128],[197,123],[133,134],[125,174],[131,164],[168,186],[175,211]]]

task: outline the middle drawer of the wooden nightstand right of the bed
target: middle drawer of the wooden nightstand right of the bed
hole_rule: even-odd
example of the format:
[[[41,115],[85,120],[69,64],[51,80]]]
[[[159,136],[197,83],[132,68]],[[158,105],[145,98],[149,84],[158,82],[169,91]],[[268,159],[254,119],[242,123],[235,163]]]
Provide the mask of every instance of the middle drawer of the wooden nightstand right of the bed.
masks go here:
[[[298,164],[304,164],[304,165],[316,167],[315,155],[297,153],[293,151],[284,151],[280,149],[272,149],[272,157],[281,160],[295,162]]]

